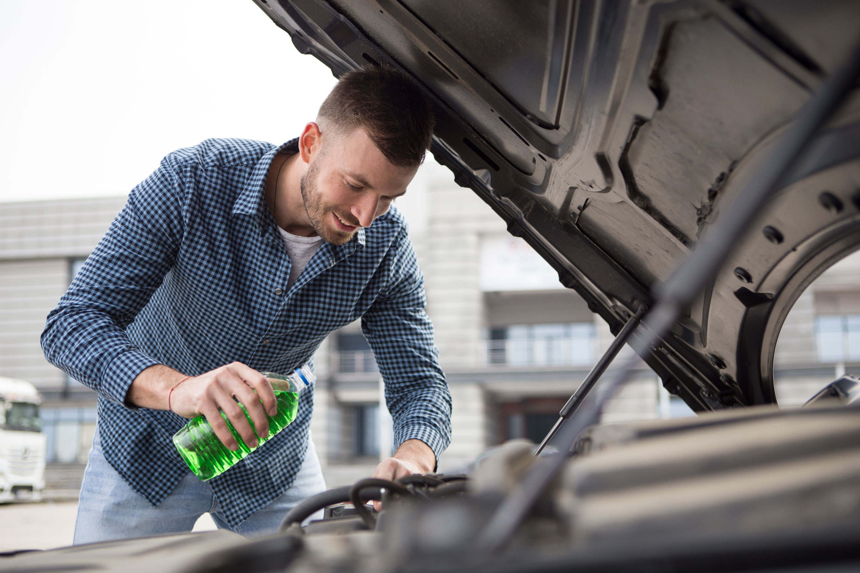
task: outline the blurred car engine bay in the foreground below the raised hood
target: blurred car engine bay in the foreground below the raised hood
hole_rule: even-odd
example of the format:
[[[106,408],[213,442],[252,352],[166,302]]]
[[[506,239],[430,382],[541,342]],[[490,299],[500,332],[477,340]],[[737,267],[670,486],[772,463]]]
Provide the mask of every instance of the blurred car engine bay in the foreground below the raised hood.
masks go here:
[[[126,539],[4,556],[0,571],[850,570],[860,565],[857,387],[845,377],[793,411],[592,426],[498,549],[482,546],[482,530],[555,455],[534,456],[531,442],[492,449],[468,475],[325,491],[263,539]],[[365,505],[376,499],[380,513]]]

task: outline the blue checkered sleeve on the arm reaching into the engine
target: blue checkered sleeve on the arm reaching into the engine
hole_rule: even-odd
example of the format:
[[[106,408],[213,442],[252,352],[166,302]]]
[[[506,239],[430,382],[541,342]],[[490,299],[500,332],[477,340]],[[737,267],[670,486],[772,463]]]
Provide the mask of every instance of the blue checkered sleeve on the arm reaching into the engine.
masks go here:
[[[383,376],[394,446],[421,440],[438,461],[451,442],[451,393],[424,310],[424,278],[405,228],[386,263],[389,284],[362,318],[362,330]]]

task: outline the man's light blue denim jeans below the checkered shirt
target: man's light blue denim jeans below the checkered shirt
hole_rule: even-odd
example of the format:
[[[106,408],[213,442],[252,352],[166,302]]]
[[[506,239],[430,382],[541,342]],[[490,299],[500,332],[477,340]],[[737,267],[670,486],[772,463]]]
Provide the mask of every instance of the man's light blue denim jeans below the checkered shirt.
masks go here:
[[[230,527],[218,507],[212,486],[188,473],[174,491],[157,506],[133,491],[126,480],[107,463],[101,450],[98,430],[89,450],[87,469],[83,473],[81,497],[77,506],[74,545],[145,537],[160,533],[189,532],[200,515],[209,512],[219,529],[230,529],[245,537],[261,537],[278,531],[286,512],[305,497],[325,491],[325,480],[310,440],[304,464],[292,487],[284,495],[258,509],[248,519]],[[309,519],[322,518],[312,515]]]

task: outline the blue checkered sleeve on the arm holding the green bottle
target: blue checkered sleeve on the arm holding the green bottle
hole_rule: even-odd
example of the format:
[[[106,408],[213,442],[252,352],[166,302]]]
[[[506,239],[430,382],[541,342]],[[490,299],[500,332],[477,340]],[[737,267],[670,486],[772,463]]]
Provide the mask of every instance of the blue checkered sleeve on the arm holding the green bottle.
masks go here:
[[[183,192],[172,155],[129,194],[41,335],[48,362],[120,405],[138,374],[159,363],[125,329],[162,283],[181,244]]]

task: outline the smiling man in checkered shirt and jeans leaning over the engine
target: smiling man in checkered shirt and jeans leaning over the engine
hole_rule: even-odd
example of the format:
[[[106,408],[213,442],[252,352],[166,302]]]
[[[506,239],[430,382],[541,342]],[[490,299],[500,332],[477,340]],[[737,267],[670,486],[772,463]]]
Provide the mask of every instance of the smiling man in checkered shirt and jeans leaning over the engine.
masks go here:
[[[244,535],[276,531],[325,489],[308,434],[312,388],[292,424],[208,482],[171,436],[202,414],[236,449],[221,410],[255,446],[237,400],[267,436],[275,401],[260,372],[310,362],[359,318],[399,446],[374,475],[433,471],[451,398],[391,206],[432,132],[420,89],[371,67],[342,76],[298,139],[210,139],[171,153],[132,190],[42,333],[47,359],[99,393],[76,544],[189,531],[207,511]]]

